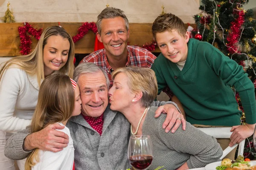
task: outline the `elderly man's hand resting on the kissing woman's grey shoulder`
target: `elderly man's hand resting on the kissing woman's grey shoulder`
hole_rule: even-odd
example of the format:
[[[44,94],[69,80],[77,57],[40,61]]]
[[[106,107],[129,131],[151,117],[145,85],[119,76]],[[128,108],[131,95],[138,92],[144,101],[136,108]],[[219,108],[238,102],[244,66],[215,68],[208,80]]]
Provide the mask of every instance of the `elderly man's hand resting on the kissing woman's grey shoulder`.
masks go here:
[[[186,130],[186,120],[183,114],[181,114],[180,109],[175,102],[160,102],[154,101],[151,106],[158,106],[155,117],[159,117],[161,113],[166,113],[166,120],[163,122],[163,129],[168,133],[172,129],[172,133],[175,133],[177,128],[182,123],[182,129]]]

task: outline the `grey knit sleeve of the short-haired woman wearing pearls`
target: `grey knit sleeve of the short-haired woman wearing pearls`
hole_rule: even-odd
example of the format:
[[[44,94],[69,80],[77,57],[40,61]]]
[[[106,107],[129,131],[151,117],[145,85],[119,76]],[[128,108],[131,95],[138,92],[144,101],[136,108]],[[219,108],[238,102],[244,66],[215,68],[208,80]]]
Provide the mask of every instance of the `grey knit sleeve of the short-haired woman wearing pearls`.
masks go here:
[[[209,163],[220,161],[219,158],[223,154],[215,138],[188,122],[186,122],[186,131],[178,128],[175,133],[165,133],[159,128],[159,136],[167,147],[180,153],[190,154],[190,158],[186,161],[189,169],[205,167]]]

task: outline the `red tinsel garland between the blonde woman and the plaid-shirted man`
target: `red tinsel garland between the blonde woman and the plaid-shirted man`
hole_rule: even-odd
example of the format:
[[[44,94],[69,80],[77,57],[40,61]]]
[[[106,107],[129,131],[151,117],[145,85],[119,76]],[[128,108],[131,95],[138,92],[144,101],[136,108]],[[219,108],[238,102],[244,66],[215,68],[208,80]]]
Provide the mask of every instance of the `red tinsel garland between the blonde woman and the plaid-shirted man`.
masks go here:
[[[79,41],[81,38],[84,37],[85,34],[88,33],[89,30],[92,30],[94,33],[98,31],[97,26],[95,23],[84,23],[79,29],[78,29],[78,34],[76,34],[72,39],[74,43]]]

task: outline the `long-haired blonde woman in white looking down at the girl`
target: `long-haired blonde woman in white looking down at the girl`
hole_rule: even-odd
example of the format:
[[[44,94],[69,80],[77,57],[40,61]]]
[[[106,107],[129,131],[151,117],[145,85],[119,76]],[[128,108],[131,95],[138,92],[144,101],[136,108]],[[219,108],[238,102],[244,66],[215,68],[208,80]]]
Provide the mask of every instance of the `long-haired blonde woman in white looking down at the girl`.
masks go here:
[[[0,168],[15,170],[4,156],[6,139],[31,122],[41,82],[53,73],[73,77],[74,43],[64,28],[48,27],[31,54],[10,59],[0,70]],[[17,161],[20,170],[24,161]]]

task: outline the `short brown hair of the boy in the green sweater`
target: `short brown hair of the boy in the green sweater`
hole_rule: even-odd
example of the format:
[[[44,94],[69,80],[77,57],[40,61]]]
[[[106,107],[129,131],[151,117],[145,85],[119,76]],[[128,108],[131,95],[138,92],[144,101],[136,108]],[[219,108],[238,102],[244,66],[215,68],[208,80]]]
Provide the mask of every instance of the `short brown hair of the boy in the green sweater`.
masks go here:
[[[186,28],[183,21],[174,14],[162,14],[158,16],[152,25],[153,38],[156,40],[156,34],[164,31],[176,30],[181,36],[185,36]]]

